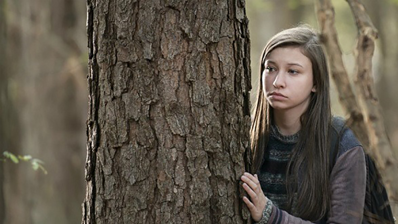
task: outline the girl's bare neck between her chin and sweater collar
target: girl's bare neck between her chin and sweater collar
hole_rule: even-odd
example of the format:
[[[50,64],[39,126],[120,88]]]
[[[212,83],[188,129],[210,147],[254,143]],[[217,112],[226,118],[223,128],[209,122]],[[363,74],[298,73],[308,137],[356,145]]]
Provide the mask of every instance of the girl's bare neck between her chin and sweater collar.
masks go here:
[[[281,134],[288,136],[296,134],[301,128],[300,116],[302,113],[274,110],[273,119]]]

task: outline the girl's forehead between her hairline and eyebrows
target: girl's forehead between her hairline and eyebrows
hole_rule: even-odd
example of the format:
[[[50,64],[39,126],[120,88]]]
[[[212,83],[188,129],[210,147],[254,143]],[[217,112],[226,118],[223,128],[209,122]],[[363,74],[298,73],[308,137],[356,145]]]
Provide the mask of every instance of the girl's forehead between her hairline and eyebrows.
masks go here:
[[[273,49],[265,59],[265,63],[312,65],[310,59],[302,53],[301,48],[294,46]]]

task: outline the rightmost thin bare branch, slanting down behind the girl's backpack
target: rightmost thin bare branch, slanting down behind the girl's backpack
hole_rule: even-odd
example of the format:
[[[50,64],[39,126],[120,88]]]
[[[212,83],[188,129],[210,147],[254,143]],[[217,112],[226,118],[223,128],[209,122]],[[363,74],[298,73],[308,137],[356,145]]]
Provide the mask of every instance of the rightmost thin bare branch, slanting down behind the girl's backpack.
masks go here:
[[[358,28],[355,50],[355,85],[360,105],[367,123],[370,146],[383,177],[390,200],[398,200],[398,167],[391,143],[388,140],[373,75],[372,57],[378,32],[360,0],[347,0]]]

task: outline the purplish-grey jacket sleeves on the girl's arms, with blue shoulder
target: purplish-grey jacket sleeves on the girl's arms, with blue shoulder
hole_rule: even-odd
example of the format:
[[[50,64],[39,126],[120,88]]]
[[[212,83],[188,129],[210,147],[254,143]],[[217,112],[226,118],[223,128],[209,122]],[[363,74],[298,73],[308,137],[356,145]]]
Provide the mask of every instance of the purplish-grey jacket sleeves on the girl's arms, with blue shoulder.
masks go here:
[[[318,224],[362,223],[366,190],[365,153],[353,132],[347,129],[339,145],[338,157],[330,174],[331,208]],[[261,220],[260,222],[265,221]],[[272,206],[269,224],[310,224]]]

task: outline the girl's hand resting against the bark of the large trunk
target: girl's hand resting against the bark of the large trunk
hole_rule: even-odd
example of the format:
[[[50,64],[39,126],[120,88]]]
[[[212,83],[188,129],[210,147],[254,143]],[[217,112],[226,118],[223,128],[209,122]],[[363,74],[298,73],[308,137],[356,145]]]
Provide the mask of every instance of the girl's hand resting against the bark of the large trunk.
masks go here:
[[[253,176],[250,173],[244,173],[240,179],[244,182],[242,186],[252,200],[250,201],[246,196],[244,196],[243,201],[248,206],[254,221],[258,222],[263,216],[263,210],[267,203],[267,198],[261,189],[257,174]]]

